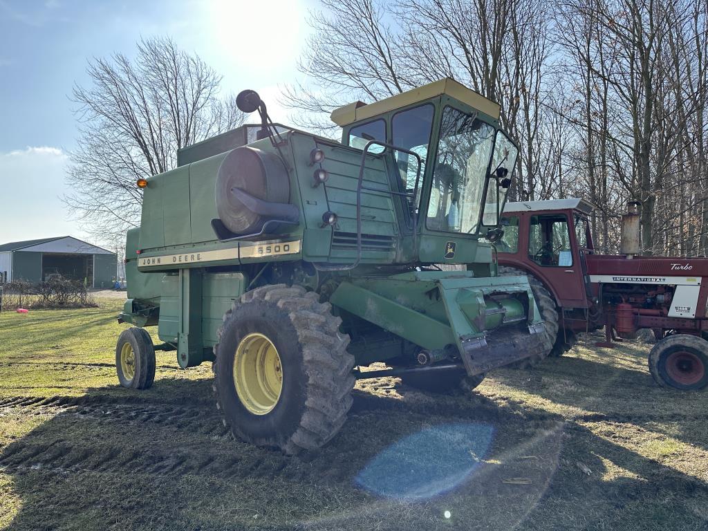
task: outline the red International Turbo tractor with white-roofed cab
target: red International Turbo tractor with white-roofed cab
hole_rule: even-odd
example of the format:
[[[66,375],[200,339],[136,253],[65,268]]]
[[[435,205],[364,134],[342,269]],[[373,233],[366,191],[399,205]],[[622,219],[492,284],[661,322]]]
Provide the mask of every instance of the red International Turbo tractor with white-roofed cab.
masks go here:
[[[636,203],[622,216],[619,255],[596,254],[582,199],[510,202],[496,241],[500,275],[528,275],[537,300],[558,314],[550,355],[562,355],[576,334],[605,327],[605,343],[651,329],[657,343],[649,370],[662,387],[708,386],[708,258],[638,256]],[[708,284],[708,282],[707,282]],[[548,311],[548,309],[546,309]],[[544,308],[541,308],[544,312]],[[555,320],[555,316],[553,316]],[[548,319],[547,319],[548,320]]]

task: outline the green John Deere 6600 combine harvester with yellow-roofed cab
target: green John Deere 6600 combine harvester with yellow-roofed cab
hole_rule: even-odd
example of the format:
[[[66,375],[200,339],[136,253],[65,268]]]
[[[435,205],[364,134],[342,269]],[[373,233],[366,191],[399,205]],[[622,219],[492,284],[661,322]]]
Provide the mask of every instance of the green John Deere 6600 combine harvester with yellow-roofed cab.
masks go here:
[[[261,124],[138,182],[124,387],[152,385],[155,350],[183,368],[212,362],[234,435],[292,454],[338,432],[356,379],[472,388],[551,350],[556,313],[539,313],[525,277],[496,276],[518,154],[496,103],[442,79],[336,109],[341,143],[273,124],[254,91],[238,105]],[[392,368],[361,370],[374,362]]]

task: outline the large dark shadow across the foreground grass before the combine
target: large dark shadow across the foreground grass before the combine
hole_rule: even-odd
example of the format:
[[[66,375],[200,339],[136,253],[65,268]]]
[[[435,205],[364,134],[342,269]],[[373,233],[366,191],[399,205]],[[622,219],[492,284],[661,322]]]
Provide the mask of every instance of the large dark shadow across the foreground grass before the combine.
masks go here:
[[[7,529],[707,525],[700,507],[707,505],[708,492],[700,481],[554,413],[500,405],[481,394],[407,393],[401,399],[376,389],[357,390],[348,422],[328,445],[285,457],[233,440],[212,406],[211,383],[164,378],[147,392],[91,389],[79,398],[47,399],[13,410],[45,414],[47,421],[0,453],[0,467],[21,500]],[[416,452],[394,452],[400,466],[388,462],[386,472],[394,481],[387,481],[395,484],[418,469],[446,467],[450,452],[462,446],[475,466],[454,489],[401,501],[357,486],[357,477],[375,466],[377,457],[435,426],[489,426],[493,437],[489,449],[476,454],[479,445],[467,447],[456,435],[445,439],[447,432],[431,445],[416,439],[421,441]],[[472,430],[465,433],[475,437]],[[604,480],[612,467],[624,475]]]

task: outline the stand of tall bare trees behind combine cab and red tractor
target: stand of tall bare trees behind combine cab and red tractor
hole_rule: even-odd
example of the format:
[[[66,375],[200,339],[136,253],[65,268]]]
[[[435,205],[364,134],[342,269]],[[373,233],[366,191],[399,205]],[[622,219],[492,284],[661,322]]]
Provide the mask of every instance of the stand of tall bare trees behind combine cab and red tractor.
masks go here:
[[[587,198],[603,252],[639,200],[643,252],[708,253],[708,0],[323,0],[310,22],[286,98],[308,125],[449,76],[500,103],[510,198]]]

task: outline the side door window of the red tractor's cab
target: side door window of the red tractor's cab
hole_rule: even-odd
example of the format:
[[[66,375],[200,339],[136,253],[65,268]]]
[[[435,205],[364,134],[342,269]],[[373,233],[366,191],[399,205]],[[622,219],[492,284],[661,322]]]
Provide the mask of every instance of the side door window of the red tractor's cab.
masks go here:
[[[531,217],[529,258],[545,267],[573,265],[568,219],[564,215]]]

